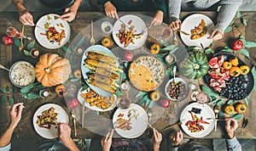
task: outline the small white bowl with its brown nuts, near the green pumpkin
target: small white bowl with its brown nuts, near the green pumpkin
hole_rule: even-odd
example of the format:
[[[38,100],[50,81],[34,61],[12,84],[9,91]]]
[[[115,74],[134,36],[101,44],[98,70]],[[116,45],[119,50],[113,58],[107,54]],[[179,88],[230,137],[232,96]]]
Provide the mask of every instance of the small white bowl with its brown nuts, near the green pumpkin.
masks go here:
[[[172,101],[182,101],[189,94],[188,83],[180,77],[172,78],[166,83],[166,96]]]

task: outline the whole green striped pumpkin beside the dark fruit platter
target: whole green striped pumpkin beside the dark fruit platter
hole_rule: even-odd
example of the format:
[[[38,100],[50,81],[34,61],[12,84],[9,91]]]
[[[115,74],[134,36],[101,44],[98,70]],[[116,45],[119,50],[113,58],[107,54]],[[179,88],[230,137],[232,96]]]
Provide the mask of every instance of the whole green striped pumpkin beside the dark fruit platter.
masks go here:
[[[200,51],[189,52],[189,56],[180,65],[181,73],[189,79],[205,76],[209,69],[207,56]]]

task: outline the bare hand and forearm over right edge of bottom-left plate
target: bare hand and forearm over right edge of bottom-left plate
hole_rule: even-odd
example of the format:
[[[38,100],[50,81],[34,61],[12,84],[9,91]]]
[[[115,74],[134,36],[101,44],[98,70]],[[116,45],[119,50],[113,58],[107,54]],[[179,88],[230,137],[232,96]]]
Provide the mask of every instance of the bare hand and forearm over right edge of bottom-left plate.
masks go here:
[[[79,151],[80,149],[73,143],[71,138],[71,128],[67,123],[58,123],[59,127],[59,137],[61,142],[70,150],[70,151]]]

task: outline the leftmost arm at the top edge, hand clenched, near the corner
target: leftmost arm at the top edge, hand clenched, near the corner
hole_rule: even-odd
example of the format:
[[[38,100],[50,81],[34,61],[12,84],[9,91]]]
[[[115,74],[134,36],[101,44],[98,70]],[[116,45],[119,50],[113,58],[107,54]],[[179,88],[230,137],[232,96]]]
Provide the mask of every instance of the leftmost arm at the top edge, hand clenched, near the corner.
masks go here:
[[[17,8],[17,11],[20,15],[20,22],[23,25],[35,25],[32,14],[30,14],[29,11],[26,10],[25,6],[23,5],[23,0],[13,0],[13,3],[15,3],[15,7]]]

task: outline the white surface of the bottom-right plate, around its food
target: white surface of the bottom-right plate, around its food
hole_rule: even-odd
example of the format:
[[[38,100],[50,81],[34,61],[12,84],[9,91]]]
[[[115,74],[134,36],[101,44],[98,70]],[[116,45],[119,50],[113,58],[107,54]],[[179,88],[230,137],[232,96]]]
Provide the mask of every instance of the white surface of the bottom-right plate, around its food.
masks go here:
[[[188,126],[185,126],[186,122],[188,120],[192,120],[192,117],[189,113],[189,110],[192,108],[201,109],[201,114],[195,114],[197,117],[201,118],[202,120],[205,120],[209,122],[210,124],[201,124],[205,127],[205,130],[199,131],[199,132],[191,132],[188,129]],[[183,120],[183,124],[181,125],[183,128],[183,131],[185,131],[190,137],[206,137],[214,128],[214,121],[213,120],[207,120],[208,118],[215,118],[215,114],[210,106],[207,104],[202,103],[190,103],[185,109],[183,109],[182,114],[180,115],[180,120]]]

